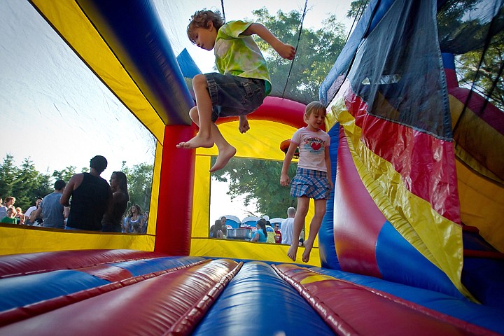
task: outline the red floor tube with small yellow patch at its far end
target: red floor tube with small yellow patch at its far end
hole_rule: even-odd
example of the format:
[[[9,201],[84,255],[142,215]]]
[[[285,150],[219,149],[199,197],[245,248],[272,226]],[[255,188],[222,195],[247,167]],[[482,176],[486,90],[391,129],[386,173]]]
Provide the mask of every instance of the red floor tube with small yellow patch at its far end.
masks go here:
[[[279,274],[303,295],[334,332],[344,335],[484,335],[490,330],[407,302],[384,292],[317,274],[293,265],[278,265]],[[323,300],[322,300],[323,298]],[[367,307],[362,314],[360,307]]]

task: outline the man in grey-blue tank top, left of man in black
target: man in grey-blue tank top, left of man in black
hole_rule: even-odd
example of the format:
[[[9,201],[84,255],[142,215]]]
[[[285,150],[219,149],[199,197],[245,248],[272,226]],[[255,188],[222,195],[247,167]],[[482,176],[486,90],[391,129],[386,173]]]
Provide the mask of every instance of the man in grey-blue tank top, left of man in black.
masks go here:
[[[63,180],[55,182],[55,190],[43,198],[43,201],[38,204],[38,209],[31,212],[29,219],[31,223],[34,223],[42,213],[44,228],[64,229],[64,208],[59,200],[65,186],[66,183]]]

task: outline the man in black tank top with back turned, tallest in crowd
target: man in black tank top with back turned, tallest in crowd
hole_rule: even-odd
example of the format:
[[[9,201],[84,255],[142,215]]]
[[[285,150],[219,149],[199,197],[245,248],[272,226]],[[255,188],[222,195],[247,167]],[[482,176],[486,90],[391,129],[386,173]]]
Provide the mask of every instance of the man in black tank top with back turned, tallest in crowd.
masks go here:
[[[102,218],[112,200],[111,187],[100,176],[106,166],[106,158],[97,155],[90,160],[89,173],[71,177],[60,200],[65,207],[70,206],[67,230],[102,230]]]

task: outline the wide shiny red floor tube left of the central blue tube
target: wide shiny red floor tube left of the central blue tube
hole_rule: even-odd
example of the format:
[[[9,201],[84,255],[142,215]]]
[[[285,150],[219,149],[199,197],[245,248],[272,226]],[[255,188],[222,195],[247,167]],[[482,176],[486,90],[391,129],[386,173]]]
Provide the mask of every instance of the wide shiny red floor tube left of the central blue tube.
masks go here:
[[[9,335],[13,330],[27,332],[32,328],[37,328],[40,335],[69,335],[69,332],[72,335],[90,335],[90,332],[104,335],[104,330],[109,330],[113,335],[117,323],[121,325],[121,335],[139,335],[138,332],[150,334],[154,330],[187,332],[207,311],[239,267],[231,260],[209,261],[143,281],[130,282],[128,286],[47,311],[43,316],[6,325],[0,328],[0,335]],[[130,309],[132,306],[128,302],[134,304],[135,309]],[[198,307],[197,311],[195,307]],[[94,319],[92,326],[81,328],[96,311],[106,311],[107,318]],[[51,330],[54,329],[54,323],[63,333]]]

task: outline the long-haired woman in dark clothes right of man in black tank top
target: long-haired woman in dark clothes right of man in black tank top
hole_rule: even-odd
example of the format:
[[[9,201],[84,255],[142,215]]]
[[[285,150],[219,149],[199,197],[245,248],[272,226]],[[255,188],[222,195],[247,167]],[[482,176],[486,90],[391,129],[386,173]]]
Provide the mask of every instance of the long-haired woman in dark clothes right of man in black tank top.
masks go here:
[[[110,179],[112,203],[102,220],[103,232],[121,232],[121,221],[125,214],[130,195],[127,192],[127,177],[123,172],[113,172]]]

